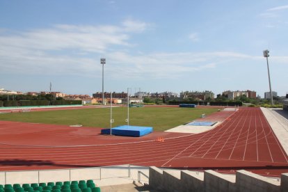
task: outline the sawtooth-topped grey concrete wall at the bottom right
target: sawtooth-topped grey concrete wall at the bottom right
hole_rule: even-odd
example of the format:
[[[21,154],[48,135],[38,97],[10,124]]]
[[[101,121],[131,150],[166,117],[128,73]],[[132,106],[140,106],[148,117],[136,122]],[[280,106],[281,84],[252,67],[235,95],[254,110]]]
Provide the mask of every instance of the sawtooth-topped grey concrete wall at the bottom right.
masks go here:
[[[213,170],[206,170],[204,177],[188,170],[180,174],[162,171],[156,167],[149,169],[149,185],[163,191],[232,191],[232,192],[284,192],[288,191],[288,173],[282,174],[281,182],[263,177],[246,170],[238,170],[236,175],[224,175]]]

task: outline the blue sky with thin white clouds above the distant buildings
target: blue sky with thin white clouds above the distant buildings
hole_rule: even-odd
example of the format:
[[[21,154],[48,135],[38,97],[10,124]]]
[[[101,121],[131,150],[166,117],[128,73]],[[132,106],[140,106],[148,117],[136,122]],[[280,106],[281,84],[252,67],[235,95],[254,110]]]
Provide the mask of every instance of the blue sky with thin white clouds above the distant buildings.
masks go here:
[[[0,1],[0,88],[288,92],[287,1]]]

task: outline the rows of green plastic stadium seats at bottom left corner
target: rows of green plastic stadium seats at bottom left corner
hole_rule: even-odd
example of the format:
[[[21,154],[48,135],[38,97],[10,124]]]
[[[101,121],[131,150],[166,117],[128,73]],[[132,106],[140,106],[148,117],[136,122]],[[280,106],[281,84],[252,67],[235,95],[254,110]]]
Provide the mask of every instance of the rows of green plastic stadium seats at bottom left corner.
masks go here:
[[[100,192],[92,179],[33,184],[0,184],[0,192]]]

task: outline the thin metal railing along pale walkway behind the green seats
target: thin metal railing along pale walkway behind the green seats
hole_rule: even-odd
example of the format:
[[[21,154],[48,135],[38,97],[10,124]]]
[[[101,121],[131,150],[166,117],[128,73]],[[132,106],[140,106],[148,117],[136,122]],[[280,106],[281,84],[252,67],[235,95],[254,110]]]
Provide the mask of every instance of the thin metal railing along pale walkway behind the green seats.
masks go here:
[[[56,170],[1,171],[0,184],[24,184],[72,180],[101,180],[114,177],[131,177],[131,166],[103,166],[93,168],[69,168]]]

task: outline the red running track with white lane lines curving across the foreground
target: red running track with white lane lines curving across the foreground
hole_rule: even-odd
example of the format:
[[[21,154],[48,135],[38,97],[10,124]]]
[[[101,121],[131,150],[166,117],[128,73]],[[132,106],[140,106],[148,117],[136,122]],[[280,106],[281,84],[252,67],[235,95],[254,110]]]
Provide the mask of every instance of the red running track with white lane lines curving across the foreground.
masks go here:
[[[287,154],[259,108],[240,108],[201,134],[155,131],[133,138],[103,136],[100,130],[0,121],[0,170],[133,164],[228,173],[246,169],[271,176],[288,173]]]

